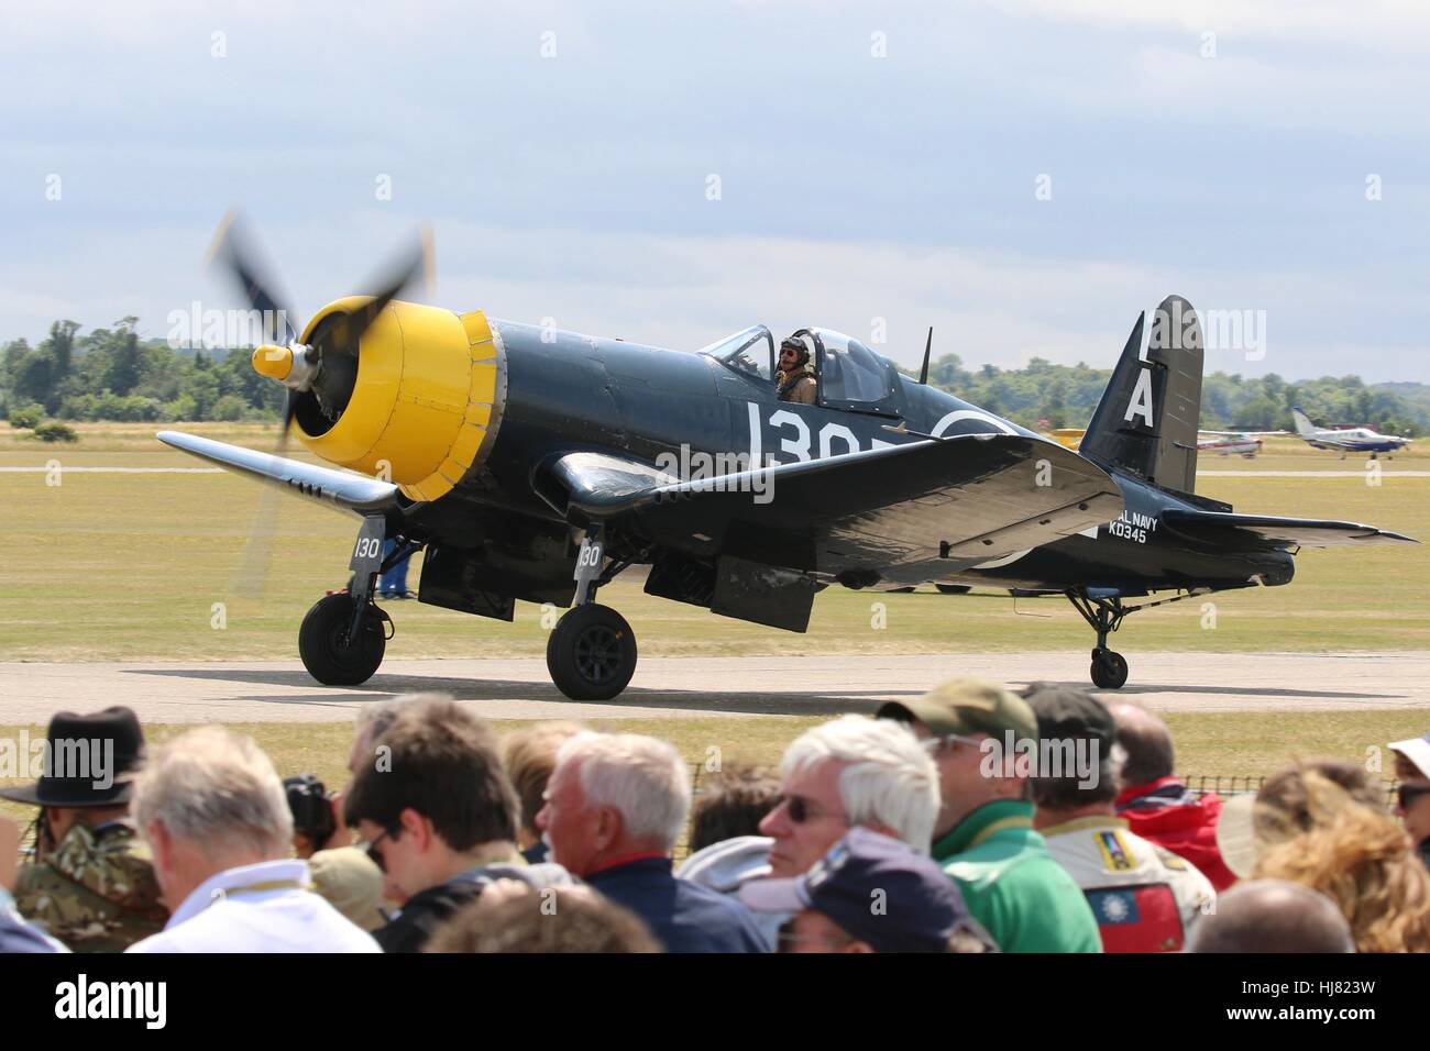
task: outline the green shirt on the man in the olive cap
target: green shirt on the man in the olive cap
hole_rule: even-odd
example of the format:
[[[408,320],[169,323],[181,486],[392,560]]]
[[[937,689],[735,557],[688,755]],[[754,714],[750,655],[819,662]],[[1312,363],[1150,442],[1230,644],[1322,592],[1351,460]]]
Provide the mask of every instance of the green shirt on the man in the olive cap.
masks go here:
[[[1032,831],[1032,804],[984,804],[934,844],[968,911],[1004,952],[1101,952],[1097,917]]]

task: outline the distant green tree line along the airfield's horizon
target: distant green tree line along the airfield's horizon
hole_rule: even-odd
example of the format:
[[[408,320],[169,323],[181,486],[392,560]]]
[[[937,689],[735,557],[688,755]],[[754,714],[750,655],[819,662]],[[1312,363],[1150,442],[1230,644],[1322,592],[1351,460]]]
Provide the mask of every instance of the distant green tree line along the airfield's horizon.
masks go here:
[[[0,355],[0,413],[33,426],[57,420],[273,420],[283,390],[249,365],[247,350],[227,352],[143,340],[137,317],[80,333],[54,322],[37,346],[11,340]],[[1054,365],[1032,357],[1021,369],[964,367],[958,355],[932,362],[928,382],[965,402],[1028,428],[1084,426],[1111,369]],[[1324,423],[1369,425],[1386,433],[1430,429],[1430,386],[1367,385],[1358,376],[1291,382],[1276,373],[1244,378],[1214,372],[1203,380],[1201,426],[1217,430],[1290,430],[1291,406]]]

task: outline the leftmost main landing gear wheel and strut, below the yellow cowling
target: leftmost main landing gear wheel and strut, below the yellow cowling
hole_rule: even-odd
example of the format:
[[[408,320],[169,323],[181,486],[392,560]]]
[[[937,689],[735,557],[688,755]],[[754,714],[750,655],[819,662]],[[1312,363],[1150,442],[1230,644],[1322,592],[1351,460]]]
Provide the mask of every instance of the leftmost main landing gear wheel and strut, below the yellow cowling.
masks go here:
[[[372,601],[373,582],[422,545],[399,538],[383,559],[386,522],[373,515],[363,522],[349,568],[347,591],[325,595],[303,615],[297,655],[307,673],[325,686],[358,686],[373,676],[393,635],[392,618]]]

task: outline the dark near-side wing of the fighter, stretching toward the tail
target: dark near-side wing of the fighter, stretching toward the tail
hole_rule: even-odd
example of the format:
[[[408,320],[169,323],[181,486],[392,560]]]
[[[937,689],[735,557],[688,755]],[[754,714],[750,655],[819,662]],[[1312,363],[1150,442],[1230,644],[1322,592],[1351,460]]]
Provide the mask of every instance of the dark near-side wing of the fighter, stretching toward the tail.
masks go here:
[[[919,581],[1084,532],[1123,495],[1097,465],[1021,435],[961,435],[678,480],[568,453],[538,492],[562,513],[625,519],[695,556],[731,553],[851,579]]]

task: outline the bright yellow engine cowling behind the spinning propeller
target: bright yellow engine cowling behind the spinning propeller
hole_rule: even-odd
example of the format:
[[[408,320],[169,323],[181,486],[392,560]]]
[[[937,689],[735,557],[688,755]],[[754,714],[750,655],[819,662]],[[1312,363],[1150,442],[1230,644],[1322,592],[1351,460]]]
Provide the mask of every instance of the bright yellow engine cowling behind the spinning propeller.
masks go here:
[[[329,303],[309,320],[302,342],[323,319],[370,302],[350,296]],[[296,430],[325,460],[386,478],[409,499],[435,500],[490,449],[503,365],[480,310],[455,315],[393,302],[362,335],[358,382],[337,420],[312,435],[300,415]]]

